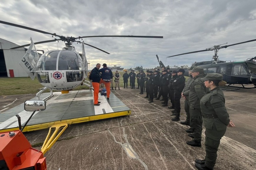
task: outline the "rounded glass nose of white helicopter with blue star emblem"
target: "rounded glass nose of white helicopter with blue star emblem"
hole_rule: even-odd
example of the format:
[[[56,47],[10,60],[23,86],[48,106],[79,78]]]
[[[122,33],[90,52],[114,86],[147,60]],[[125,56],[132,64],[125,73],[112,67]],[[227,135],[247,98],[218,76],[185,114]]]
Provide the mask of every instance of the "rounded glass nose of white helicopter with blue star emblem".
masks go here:
[[[38,81],[54,90],[71,90],[84,78],[83,62],[75,50],[50,50],[45,52],[36,65]]]

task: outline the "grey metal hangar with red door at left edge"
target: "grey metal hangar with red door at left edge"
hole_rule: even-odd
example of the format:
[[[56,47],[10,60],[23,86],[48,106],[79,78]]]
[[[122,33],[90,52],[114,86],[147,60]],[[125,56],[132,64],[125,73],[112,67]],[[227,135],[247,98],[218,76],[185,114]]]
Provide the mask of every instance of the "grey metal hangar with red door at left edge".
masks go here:
[[[28,77],[28,74],[19,65],[26,53],[26,48],[10,49],[19,45],[0,38],[0,76],[1,77]]]

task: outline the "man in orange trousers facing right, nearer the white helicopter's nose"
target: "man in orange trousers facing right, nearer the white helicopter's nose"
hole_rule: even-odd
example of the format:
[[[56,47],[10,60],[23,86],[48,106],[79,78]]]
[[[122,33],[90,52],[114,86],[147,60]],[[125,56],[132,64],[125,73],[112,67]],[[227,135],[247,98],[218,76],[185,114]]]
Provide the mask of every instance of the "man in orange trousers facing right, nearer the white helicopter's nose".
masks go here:
[[[100,64],[96,64],[96,67],[92,69],[92,73],[90,75],[90,80],[92,80],[92,86],[94,89],[93,95],[94,95],[94,106],[99,106],[100,102],[98,101],[99,98],[99,81],[100,81],[100,75],[99,75],[99,68]]]

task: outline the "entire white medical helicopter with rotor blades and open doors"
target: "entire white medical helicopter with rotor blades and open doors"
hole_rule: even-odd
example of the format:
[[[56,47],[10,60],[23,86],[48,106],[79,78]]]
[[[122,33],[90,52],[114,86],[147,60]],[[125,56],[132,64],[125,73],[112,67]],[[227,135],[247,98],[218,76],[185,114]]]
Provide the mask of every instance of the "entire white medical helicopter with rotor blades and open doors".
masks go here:
[[[59,37],[59,39],[54,38],[53,40],[46,40],[41,42],[34,43],[31,38],[31,43],[26,45],[21,45],[18,47],[14,47],[11,49],[17,49],[21,47],[29,46],[26,54],[24,55],[23,59],[19,63],[21,67],[28,73],[31,79],[37,77],[40,84],[44,86],[44,88],[36,94],[38,100],[40,100],[40,95],[46,89],[51,89],[51,95],[47,98],[53,96],[52,90],[59,90],[59,91],[69,91],[79,84],[83,84],[92,88],[89,81],[85,80],[87,77],[87,67],[88,62],[86,59],[86,53],[84,50],[84,45],[88,45],[90,47],[96,48],[102,52],[110,54],[104,50],[101,50],[97,47],[92,45],[86,44],[77,39],[82,38],[90,38],[90,37],[129,37],[129,38],[163,38],[163,36],[133,36],[133,35],[96,35],[96,36],[83,36],[83,37],[64,37],[62,35],[57,35],[56,33],[49,33],[42,30],[21,26],[14,23],[9,23],[5,21],[0,21],[2,24],[15,26],[19,28],[24,28],[27,30],[36,31],[39,33],[49,34]],[[40,58],[36,51],[36,44],[41,43],[49,43],[55,41],[64,41],[66,42],[66,47],[63,47],[62,50],[50,50],[45,52]],[[83,40],[83,39],[82,39]],[[78,53],[75,50],[75,47],[72,46],[73,42],[82,43],[82,54]],[[89,83],[89,84],[87,84]]]

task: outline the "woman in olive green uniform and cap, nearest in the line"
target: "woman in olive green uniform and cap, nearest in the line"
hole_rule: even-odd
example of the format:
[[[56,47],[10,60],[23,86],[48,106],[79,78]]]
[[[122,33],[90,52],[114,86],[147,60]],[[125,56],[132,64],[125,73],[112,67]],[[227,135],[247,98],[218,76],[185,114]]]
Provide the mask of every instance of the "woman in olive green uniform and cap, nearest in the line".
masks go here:
[[[225,98],[223,91],[219,86],[224,86],[225,81],[222,81],[222,74],[209,73],[202,81],[205,81],[205,86],[210,88],[210,91],[205,94],[200,100],[202,117],[205,126],[205,159],[195,160],[195,166],[200,170],[213,169],[216,159],[217,150],[220,144],[220,139],[224,136],[227,127],[235,127],[225,108]],[[190,96],[189,96],[190,97]]]

